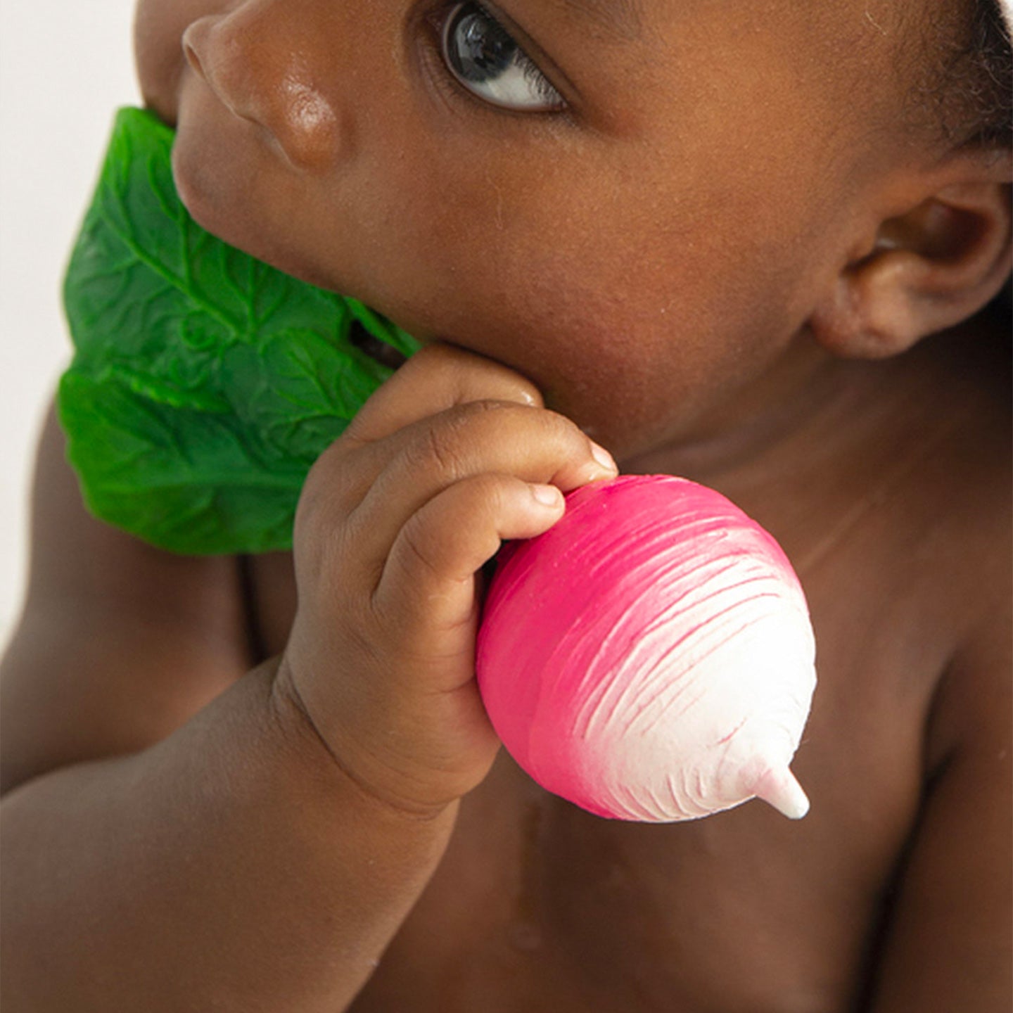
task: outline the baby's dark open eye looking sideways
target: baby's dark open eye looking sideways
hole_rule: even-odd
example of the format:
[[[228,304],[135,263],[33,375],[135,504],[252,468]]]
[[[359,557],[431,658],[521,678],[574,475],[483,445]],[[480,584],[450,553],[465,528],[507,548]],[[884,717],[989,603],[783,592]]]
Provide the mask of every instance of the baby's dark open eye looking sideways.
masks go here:
[[[492,105],[527,112],[565,106],[532,59],[480,4],[459,3],[447,17],[443,58],[470,92]]]

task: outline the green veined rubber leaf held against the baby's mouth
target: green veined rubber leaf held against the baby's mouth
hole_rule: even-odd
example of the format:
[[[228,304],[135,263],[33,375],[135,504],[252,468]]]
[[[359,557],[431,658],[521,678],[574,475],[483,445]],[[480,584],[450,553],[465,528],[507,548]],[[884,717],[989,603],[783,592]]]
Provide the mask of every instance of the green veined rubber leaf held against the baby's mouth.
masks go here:
[[[75,357],[58,400],[98,518],[176,552],[289,548],[316,458],[404,355],[404,331],[206,232],[172,181],[172,132],[122,109],[64,283]]]

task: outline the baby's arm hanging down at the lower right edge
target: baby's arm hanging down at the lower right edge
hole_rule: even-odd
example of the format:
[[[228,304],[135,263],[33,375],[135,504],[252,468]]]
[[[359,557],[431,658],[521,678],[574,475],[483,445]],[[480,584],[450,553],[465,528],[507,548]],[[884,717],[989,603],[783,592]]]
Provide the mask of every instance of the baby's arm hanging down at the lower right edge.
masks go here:
[[[1010,625],[1007,601],[937,695],[929,748],[938,773],[908,857],[874,1013],[1013,1008]]]

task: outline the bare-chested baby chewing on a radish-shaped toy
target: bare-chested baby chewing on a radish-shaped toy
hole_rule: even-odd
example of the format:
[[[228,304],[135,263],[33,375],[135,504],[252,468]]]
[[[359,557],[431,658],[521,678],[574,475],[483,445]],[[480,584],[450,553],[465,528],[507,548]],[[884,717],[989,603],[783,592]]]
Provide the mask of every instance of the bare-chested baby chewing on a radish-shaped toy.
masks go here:
[[[426,346],[294,558],[104,527],[48,426],[7,1013],[1006,1013],[999,9],[141,0],[137,56],[194,218]],[[601,820],[498,751],[483,567],[615,461],[794,562],[800,823]]]

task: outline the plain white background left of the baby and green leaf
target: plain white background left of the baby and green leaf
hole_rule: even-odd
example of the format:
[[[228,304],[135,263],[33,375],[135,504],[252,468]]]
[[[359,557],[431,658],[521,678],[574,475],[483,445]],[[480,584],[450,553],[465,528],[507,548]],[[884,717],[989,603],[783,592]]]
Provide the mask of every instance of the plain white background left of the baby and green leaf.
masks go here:
[[[112,114],[139,102],[134,0],[0,0],[0,651],[20,609],[31,460],[69,356],[64,263]]]

